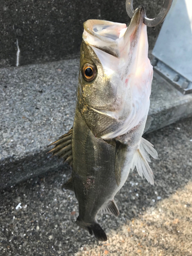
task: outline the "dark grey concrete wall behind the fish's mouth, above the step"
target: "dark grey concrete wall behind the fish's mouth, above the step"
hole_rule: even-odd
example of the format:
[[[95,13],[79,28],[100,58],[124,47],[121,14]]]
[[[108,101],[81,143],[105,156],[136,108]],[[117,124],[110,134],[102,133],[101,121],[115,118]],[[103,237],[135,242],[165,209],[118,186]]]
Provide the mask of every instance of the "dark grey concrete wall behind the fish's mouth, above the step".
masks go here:
[[[134,0],[148,17],[160,11],[162,0]],[[76,56],[81,44],[83,22],[106,19],[128,23],[125,0],[6,0],[0,2],[0,67],[15,66],[17,41],[19,65]],[[161,26],[148,28],[153,48]]]

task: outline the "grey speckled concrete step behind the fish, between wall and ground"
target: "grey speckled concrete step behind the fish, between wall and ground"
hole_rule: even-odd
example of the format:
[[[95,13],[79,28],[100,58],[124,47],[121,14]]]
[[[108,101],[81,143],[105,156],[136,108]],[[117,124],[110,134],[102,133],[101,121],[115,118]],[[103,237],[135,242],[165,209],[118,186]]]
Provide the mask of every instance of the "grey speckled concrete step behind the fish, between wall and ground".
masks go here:
[[[73,124],[78,69],[79,58],[0,69],[1,189],[62,164],[49,159],[46,146]],[[192,95],[155,73],[150,115],[148,132],[191,116]]]

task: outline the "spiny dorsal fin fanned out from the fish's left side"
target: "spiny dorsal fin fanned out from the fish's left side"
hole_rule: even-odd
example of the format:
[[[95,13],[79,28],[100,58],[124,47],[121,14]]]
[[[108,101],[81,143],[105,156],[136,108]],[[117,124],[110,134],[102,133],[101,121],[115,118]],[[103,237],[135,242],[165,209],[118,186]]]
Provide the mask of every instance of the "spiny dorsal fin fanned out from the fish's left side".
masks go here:
[[[58,156],[58,158],[63,158],[63,162],[67,162],[72,166],[72,134],[73,128],[68,133],[59,137],[58,140],[48,145],[48,147],[52,145],[54,147],[47,154],[52,153],[52,157]]]

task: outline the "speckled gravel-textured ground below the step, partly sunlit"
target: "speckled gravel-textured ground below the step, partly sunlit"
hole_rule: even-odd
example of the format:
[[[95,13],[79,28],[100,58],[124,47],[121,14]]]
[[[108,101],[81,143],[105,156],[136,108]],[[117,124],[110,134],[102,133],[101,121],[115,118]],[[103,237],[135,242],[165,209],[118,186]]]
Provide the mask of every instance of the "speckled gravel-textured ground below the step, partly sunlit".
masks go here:
[[[185,119],[145,136],[159,153],[151,164],[155,185],[131,173],[115,198],[119,218],[99,216],[107,242],[74,223],[77,200],[61,190],[71,172],[65,165],[4,190],[0,254],[192,255],[191,125],[192,119]]]

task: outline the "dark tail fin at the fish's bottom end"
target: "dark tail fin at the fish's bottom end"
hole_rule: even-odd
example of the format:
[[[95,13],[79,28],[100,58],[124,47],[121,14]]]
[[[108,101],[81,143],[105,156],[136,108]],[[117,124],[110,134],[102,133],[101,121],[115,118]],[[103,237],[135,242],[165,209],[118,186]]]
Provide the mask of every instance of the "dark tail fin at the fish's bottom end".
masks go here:
[[[76,220],[76,223],[77,223],[77,225],[79,227],[87,229],[90,234],[94,233],[96,239],[98,239],[99,241],[106,241],[106,240],[108,240],[104,230],[101,228],[99,223],[94,222],[93,224],[87,224],[87,223],[83,222],[79,216],[78,216],[78,218]]]

